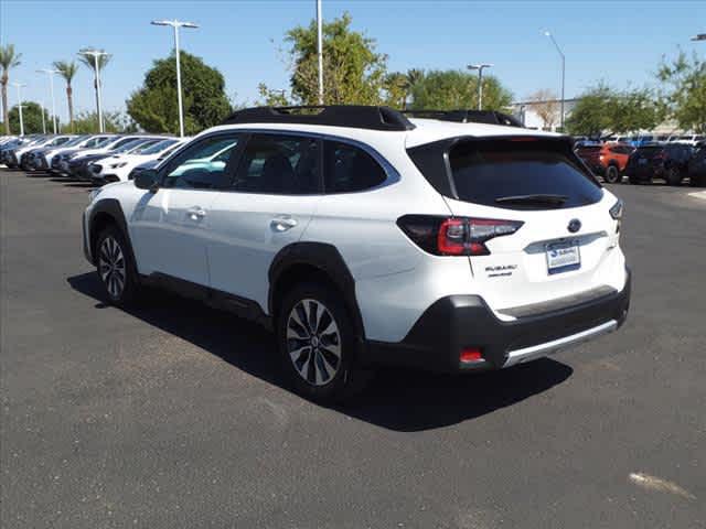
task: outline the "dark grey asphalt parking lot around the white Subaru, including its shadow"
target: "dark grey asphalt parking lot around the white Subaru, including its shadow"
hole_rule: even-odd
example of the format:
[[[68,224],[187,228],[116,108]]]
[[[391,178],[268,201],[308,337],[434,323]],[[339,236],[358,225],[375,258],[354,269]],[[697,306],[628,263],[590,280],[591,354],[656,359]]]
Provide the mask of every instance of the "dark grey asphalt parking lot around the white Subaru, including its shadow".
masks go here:
[[[87,187],[0,169],[0,526],[706,527],[706,199],[612,188],[619,333],[489,375],[381,373],[325,409],[257,326],[106,305]]]

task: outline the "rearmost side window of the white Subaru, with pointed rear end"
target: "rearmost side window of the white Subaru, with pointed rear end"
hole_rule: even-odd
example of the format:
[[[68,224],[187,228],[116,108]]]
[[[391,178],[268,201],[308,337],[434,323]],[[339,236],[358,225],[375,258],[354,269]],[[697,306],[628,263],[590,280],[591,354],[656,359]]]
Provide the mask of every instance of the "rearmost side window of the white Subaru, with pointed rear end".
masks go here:
[[[324,158],[327,193],[370,190],[385,182],[387,177],[373,156],[347,143],[327,141]]]

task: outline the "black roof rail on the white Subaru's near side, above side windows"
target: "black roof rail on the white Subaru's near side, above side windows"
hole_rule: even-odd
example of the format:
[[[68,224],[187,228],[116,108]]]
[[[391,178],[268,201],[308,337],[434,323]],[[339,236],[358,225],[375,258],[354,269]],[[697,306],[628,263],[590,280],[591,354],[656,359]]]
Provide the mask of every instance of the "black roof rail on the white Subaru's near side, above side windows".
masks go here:
[[[303,123],[372,130],[411,130],[415,126],[398,110],[365,105],[254,107],[237,110],[223,125]]]

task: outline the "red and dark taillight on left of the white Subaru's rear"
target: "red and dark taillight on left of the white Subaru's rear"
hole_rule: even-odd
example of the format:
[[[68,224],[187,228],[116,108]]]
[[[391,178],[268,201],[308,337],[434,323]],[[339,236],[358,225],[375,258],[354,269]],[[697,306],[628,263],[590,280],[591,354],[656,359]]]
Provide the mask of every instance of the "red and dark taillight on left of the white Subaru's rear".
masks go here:
[[[397,226],[419,248],[435,256],[488,256],[490,239],[511,235],[524,223],[495,218],[405,215]]]

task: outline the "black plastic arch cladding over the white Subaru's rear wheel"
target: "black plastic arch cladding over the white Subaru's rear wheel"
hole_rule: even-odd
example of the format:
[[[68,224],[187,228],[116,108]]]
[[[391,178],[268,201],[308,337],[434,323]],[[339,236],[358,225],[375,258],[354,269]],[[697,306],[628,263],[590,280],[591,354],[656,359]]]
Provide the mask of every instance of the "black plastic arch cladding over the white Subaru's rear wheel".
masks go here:
[[[307,280],[330,283],[343,295],[351,313],[356,336],[365,338],[361,310],[355,296],[355,280],[343,257],[333,245],[324,242],[293,242],[275,256],[268,271],[268,312],[277,317],[281,300],[289,288]]]

